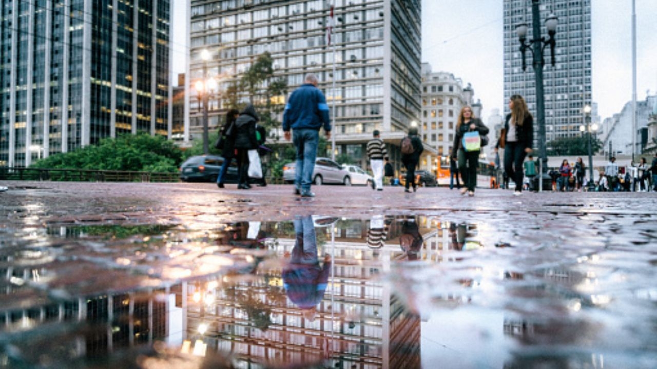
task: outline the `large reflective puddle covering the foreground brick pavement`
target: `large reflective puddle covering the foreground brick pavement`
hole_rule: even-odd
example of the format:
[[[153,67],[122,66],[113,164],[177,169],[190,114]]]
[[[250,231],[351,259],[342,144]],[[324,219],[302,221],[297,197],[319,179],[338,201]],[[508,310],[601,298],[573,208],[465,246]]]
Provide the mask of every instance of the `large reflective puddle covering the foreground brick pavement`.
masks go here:
[[[654,215],[33,217],[0,368],[657,366]]]

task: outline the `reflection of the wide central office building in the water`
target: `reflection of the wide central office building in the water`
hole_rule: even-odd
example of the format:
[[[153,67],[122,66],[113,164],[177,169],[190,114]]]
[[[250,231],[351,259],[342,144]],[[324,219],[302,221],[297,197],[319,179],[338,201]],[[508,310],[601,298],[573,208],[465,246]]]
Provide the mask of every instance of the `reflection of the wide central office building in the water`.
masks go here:
[[[294,239],[283,238],[283,228],[272,246],[281,259],[294,244]],[[373,280],[403,254],[396,240],[399,227],[390,227],[393,240],[379,250],[366,246],[365,221],[348,221],[344,227],[338,223],[334,250],[330,227],[316,229],[322,252],[333,253],[334,277],[313,321],[286,297],[280,271],[269,271],[258,281],[228,288],[183,284],[187,333],[198,335],[198,326],[206,323],[208,347],[230,351],[245,362],[330,360],[330,366],[341,368],[420,368],[419,316],[405,308],[390,286]],[[205,304],[200,295],[194,298],[198,291],[216,299]]]

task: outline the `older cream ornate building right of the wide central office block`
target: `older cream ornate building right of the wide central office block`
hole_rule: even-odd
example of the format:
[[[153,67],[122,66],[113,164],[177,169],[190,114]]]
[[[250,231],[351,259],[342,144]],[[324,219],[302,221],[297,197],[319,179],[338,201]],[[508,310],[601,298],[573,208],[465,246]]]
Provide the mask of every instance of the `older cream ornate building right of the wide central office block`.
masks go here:
[[[469,105],[474,116],[482,118],[482,104],[474,102],[473,97],[470,83],[464,87],[461,78],[449,72],[432,72],[430,64],[422,63],[420,134],[427,145],[436,149],[438,156],[449,156],[463,106]],[[485,120],[482,118],[484,123]]]

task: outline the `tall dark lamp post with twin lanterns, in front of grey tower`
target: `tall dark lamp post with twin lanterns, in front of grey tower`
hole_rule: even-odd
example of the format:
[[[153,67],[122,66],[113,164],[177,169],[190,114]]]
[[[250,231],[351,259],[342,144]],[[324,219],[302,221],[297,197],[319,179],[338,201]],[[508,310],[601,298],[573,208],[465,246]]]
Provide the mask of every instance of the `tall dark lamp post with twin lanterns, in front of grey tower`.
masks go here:
[[[547,168],[547,153],[545,151],[545,96],[543,95],[543,51],[545,47],[550,46],[551,64],[555,66],[555,47],[556,47],[556,25],[557,18],[554,14],[550,14],[545,20],[545,28],[549,39],[541,37],[541,14],[539,9],[540,0],[532,0],[532,37],[533,39],[527,40],[527,24],[518,24],[516,26],[516,34],[518,41],[520,41],[520,53],[522,54],[522,70],[527,69],[525,61],[526,51],[529,50],[533,54],[533,70],[536,81],[536,115],[538,118],[538,156],[539,160],[539,191],[543,190],[543,182],[552,183],[549,175],[543,170]],[[532,49],[533,47],[533,49]]]

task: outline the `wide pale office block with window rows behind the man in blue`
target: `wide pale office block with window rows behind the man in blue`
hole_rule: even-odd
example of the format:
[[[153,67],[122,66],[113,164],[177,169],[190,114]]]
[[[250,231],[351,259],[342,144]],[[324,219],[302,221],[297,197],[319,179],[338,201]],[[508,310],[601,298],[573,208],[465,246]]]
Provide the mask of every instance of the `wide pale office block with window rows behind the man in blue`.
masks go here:
[[[205,70],[206,77],[218,79],[221,97],[258,55],[268,51],[275,74],[288,83],[288,93],[304,82],[305,74],[317,74],[319,88],[335,107],[338,155],[363,160],[364,167],[365,143],[374,129],[381,131],[386,143],[398,146],[411,121],[419,117],[421,3],[336,0],[333,19],[330,3],[191,0],[187,86],[202,79]],[[200,57],[204,49],[211,55],[207,62]],[[202,125],[198,98],[194,92],[190,95],[187,135],[200,133]],[[211,129],[225,108],[223,100],[210,103]],[[399,154],[392,152],[396,160]]]

